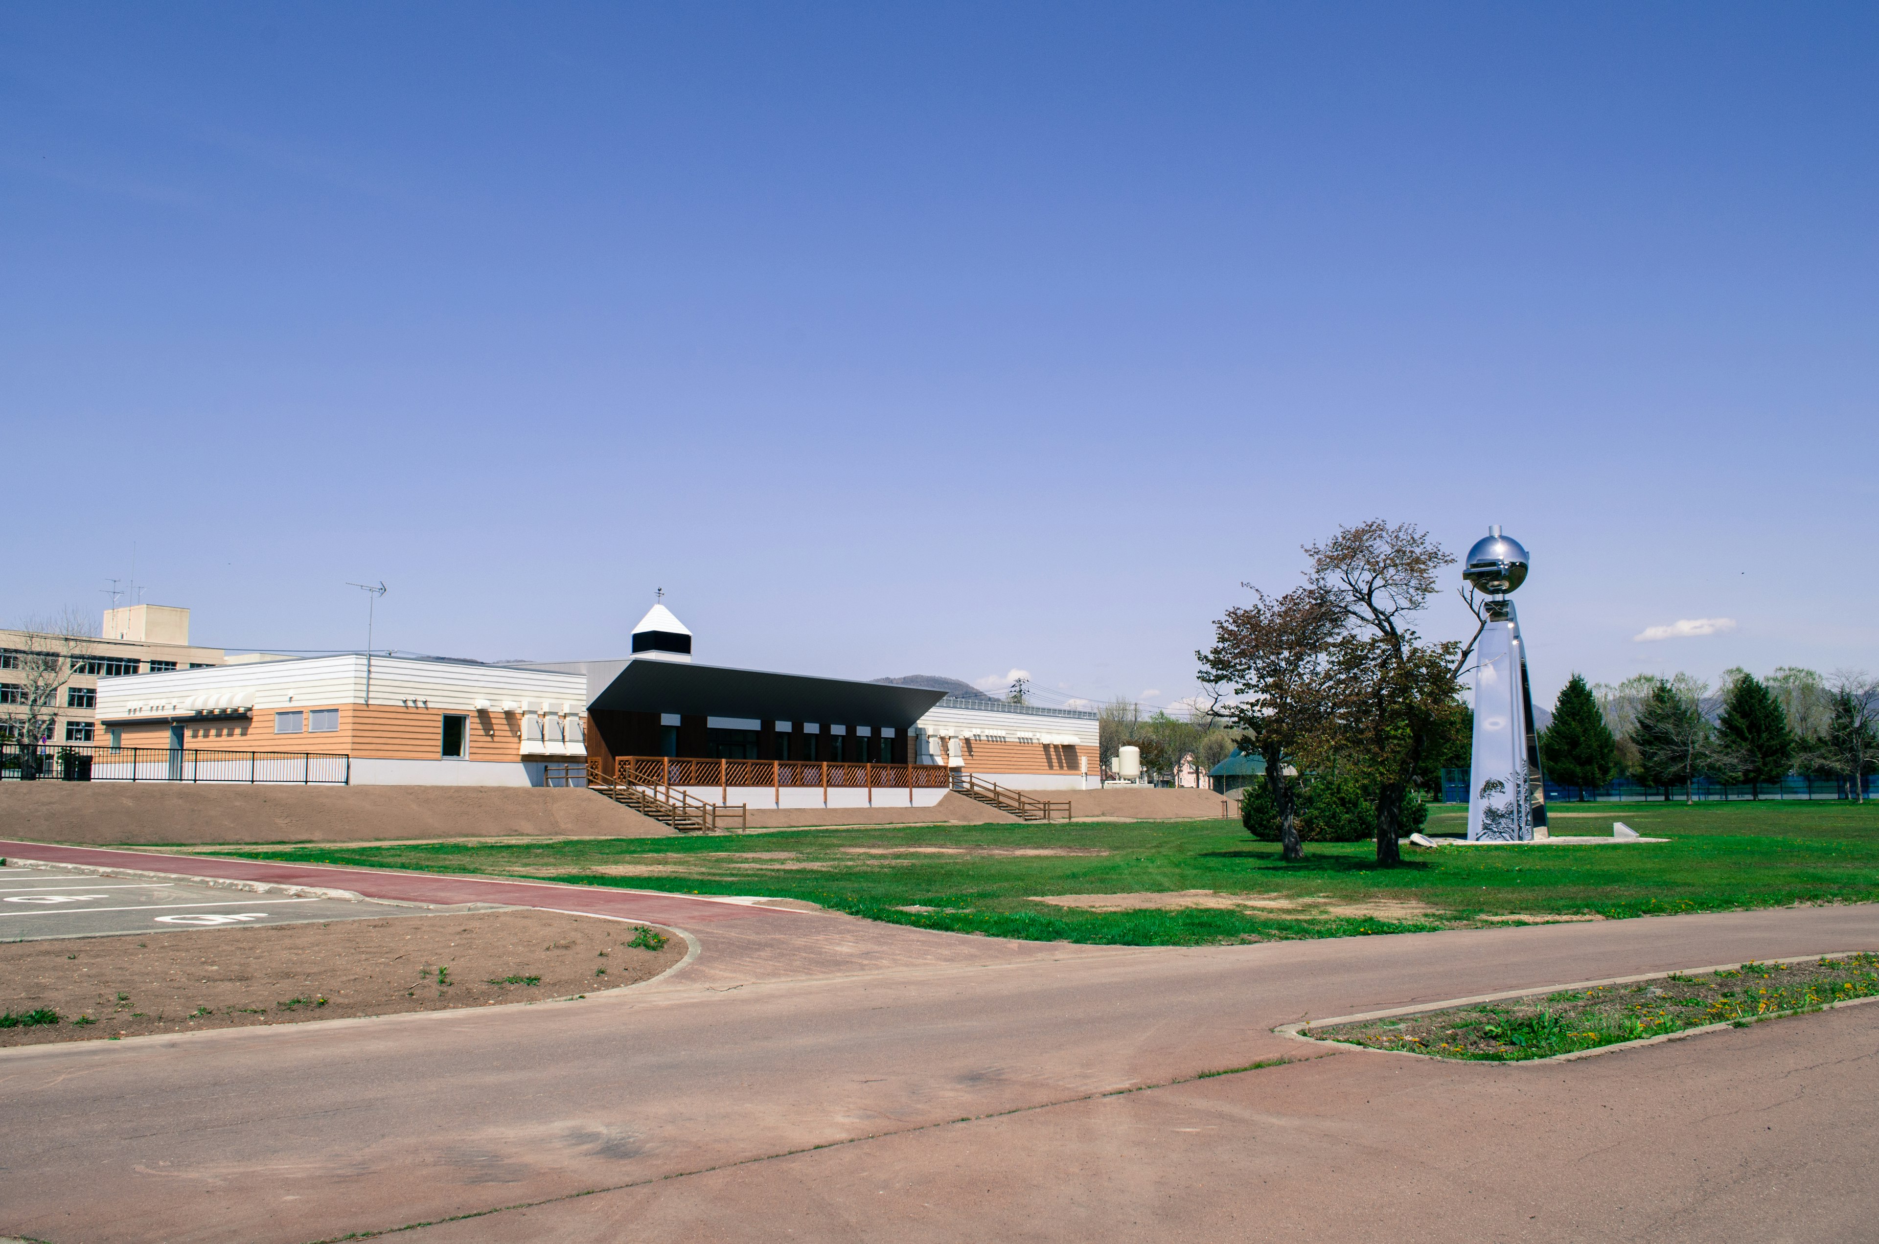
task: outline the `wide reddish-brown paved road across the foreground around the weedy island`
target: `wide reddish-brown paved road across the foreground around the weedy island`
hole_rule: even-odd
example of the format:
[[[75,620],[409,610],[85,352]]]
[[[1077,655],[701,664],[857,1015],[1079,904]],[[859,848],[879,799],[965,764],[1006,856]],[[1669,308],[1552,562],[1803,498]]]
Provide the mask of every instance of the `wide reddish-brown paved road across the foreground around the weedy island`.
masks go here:
[[[370,893],[359,876],[306,883]],[[1875,908],[1101,949],[695,906],[695,964],[584,1002],[8,1050],[0,1233],[474,1214],[412,1235],[1851,1240],[1879,1220],[1879,1005],[1548,1067],[1325,1052],[1178,1082],[1319,1052],[1270,1032],[1308,1015],[1875,949]]]

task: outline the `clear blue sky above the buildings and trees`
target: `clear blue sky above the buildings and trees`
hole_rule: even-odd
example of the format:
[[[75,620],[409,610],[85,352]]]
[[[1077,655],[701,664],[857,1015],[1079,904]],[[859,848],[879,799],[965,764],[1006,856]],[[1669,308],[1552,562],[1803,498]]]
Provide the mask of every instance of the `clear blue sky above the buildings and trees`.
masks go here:
[[[1879,665],[1873,6],[15,4],[0,117],[6,622],[1167,701],[1377,515],[1548,701]]]

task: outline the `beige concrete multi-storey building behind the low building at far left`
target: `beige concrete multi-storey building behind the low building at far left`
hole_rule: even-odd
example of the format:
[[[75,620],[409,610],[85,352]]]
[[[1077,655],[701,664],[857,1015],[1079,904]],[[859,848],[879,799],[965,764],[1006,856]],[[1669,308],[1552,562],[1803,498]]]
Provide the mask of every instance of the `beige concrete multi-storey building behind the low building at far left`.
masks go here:
[[[45,742],[54,744],[98,740],[100,678],[227,663],[222,648],[190,643],[190,611],[173,605],[105,609],[96,637],[0,630],[0,722],[23,716],[32,682],[30,665],[53,656],[60,658],[64,684],[41,716],[51,720]],[[6,725],[0,723],[0,729]]]

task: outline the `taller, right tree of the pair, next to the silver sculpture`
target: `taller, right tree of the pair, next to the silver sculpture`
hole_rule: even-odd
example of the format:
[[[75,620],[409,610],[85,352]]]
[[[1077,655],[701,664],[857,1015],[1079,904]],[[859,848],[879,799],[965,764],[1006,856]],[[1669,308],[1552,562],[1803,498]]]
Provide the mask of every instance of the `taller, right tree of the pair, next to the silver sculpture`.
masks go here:
[[[1469,641],[1428,643],[1415,616],[1436,594],[1436,573],[1454,556],[1413,524],[1379,519],[1306,545],[1312,588],[1343,614],[1332,654],[1338,695],[1319,754],[1334,754],[1374,795],[1377,864],[1402,861],[1396,838],[1404,802],[1437,739],[1462,712],[1460,673],[1486,616],[1477,609]],[[1473,596],[1464,592],[1473,609]]]

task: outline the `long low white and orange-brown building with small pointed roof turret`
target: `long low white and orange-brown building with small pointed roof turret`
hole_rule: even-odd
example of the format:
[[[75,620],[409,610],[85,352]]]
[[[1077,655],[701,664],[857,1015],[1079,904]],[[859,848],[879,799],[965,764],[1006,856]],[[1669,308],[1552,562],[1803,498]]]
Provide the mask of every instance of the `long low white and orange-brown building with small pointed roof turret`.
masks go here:
[[[100,686],[100,742],[169,769],[169,754],[334,755],[359,784],[541,785],[592,765],[705,802],[782,808],[930,806],[955,774],[1015,789],[1101,782],[1094,712],[703,665],[691,645],[654,605],[631,656],[603,661],[344,654],[126,673]]]

